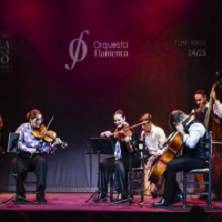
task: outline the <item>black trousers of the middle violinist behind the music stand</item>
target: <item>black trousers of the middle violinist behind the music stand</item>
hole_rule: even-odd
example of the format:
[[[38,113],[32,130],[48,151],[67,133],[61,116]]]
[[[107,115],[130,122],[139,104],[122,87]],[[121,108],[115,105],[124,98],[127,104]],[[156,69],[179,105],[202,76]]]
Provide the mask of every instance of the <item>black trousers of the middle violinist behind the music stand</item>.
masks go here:
[[[128,156],[124,160],[115,160],[113,157],[104,159],[99,163],[98,188],[101,193],[107,193],[108,184],[114,176],[114,189],[124,196],[128,193],[128,172],[130,166],[138,167],[140,160],[136,155]]]

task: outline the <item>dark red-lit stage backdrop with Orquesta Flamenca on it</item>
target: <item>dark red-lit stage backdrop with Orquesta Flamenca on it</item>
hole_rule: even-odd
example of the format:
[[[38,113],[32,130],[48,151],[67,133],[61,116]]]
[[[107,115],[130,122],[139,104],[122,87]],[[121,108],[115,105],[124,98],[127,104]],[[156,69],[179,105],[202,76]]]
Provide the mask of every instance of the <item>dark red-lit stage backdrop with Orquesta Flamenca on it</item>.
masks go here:
[[[207,0],[1,0],[0,112],[9,131],[32,108],[69,143],[49,157],[48,191],[96,187],[89,137],[123,109],[143,112],[168,132],[168,114],[189,112],[197,88],[221,70],[220,8]],[[1,156],[0,188],[11,189]],[[90,172],[92,170],[92,180]]]

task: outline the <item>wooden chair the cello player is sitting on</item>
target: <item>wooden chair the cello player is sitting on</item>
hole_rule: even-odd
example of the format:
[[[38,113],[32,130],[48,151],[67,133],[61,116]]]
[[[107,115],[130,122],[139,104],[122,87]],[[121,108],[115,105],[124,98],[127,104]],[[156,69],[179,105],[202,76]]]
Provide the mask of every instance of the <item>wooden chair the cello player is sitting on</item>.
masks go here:
[[[205,135],[205,138],[202,141],[203,147],[206,150],[207,153],[207,161],[206,161],[206,167],[201,169],[193,169],[188,172],[183,172],[183,208],[187,207],[187,194],[197,194],[202,196],[207,196],[207,203],[208,207],[212,207],[212,199],[211,199],[211,188],[212,188],[212,175],[211,175],[211,169],[212,169],[212,133],[207,132]],[[194,180],[194,177],[192,177],[192,180],[188,180],[189,174],[204,174],[204,184],[207,185],[207,190],[203,192],[189,192],[188,191],[188,185],[195,185],[197,182]]]

